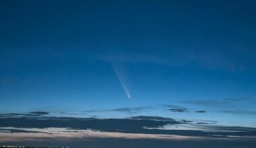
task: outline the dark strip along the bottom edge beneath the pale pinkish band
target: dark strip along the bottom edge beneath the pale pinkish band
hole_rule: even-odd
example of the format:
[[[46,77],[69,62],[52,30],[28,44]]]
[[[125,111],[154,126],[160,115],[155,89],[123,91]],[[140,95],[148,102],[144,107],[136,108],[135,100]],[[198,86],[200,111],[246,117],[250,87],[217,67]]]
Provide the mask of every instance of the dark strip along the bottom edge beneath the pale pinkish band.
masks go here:
[[[152,139],[38,139],[0,143],[0,145],[41,145],[45,147],[88,147],[88,148],[141,148],[141,147],[189,147],[189,148],[256,148],[256,139],[207,139],[207,140],[152,140]]]

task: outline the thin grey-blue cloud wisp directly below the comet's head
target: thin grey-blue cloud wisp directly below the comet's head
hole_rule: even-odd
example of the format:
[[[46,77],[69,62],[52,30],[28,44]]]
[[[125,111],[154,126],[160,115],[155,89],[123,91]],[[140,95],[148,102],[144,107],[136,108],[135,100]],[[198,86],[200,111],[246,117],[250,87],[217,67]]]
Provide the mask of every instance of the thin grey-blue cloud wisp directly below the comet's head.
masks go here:
[[[109,110],[85,110],[85,112],[125,112],[127,114],[135,114],[142,112],[144,110],[152,109],[152,106],[143,106],[143,107],[125,107],[125,108],[114,108]]]

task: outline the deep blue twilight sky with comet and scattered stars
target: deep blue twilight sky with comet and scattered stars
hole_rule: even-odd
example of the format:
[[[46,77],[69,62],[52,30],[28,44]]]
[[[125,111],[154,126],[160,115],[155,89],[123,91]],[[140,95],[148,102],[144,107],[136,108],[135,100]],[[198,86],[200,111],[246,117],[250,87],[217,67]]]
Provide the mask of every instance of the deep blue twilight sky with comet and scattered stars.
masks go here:
[[[42,134],[55,128],[63,137],[82,138],[90,128],[103,132],[94,138],[129,139],[122,143],[159,140],[173,129],[246,128],[252,133],[239,137],[255,138],[255,6],[249,0],[0,1],[0,143],[9,141],[1,135],[22,139],[25,131],[49,138]],[[98,126],[50,124],[53,118]],[[41,119],[49,131],[36,124]],[[148,131],[128,124],[141,120]]]

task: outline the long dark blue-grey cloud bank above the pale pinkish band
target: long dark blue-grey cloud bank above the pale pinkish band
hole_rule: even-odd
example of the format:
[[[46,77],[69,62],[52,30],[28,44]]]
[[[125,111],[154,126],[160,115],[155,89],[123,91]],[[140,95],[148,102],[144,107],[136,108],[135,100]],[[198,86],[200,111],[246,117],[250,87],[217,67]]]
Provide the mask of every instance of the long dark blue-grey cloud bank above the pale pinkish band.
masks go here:
[[[256,128],[235,126],[203,126],[201,131],[164,130],[162,126],[191,124],[187,120],[174,120],[160,116],[133,116],[131,118],[71,118],[71,117],[1,117],[0,127],[16,128],[71,128],[76,130],[92,129],[103,132],[143,133],[157,135],[183,135],[194,137],[255,136]],[[207,124],[207,123],[205,123]],[[230,131],[230,132],[228,132]],[[236,132],[234,132],[236,131]],[[1,132],[1,131],[0,131]],[[12,131],[20,133],[22,131]],[[216,136],[217,135],[217,136]]]

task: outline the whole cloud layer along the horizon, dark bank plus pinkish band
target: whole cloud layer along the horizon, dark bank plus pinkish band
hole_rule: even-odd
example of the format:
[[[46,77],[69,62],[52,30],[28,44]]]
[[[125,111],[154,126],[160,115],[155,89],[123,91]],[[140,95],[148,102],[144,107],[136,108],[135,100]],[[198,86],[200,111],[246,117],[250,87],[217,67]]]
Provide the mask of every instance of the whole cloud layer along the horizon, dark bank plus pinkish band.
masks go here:
[[[134,109],[134,108],[133,108]],[[144,108],[137,108],[143,110]],[[121,112],[129,108],[120,109]],[[119,111],[119,110],[118,110]],[[36,114],[37,116],[34,116]],[[0,115],[1,143],[45,145],[84,145],[87,141],[130,139],[131,141],[255,141],[256,128],[220,126],[216,121],[176,120],[162,116],[131,116],[129,118],[74,118],[49,116],[50,112]],[[210,124],[215,124],[214,126]],[[178,128],[179,127],[179,128]],[[83,140],[84,139],[84,140]],[[87,140],[85,140],[87,139]],[[129,140],[129,141],[130,141]],[[63,142],[65,141],[65,142]],[[79,141],[79,144],[75,144]],[[175,142],[177,143],[177,142]],[[232,145],[232,143],[229,143]],[[183,145],[178,143],[176,146]],[[251,144],[250,144],[251,145]],[[197,145],[198,146],[198,145]],[[248,146],[248,145],[247,145]],[[115,147],[115,146],[113,146]],[[198,146],[199,147],[199,146]]]

